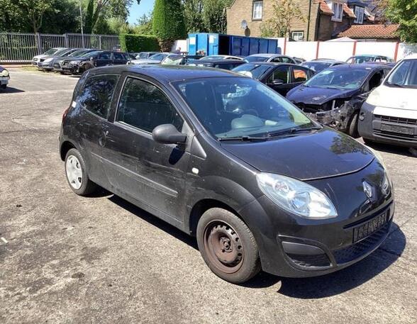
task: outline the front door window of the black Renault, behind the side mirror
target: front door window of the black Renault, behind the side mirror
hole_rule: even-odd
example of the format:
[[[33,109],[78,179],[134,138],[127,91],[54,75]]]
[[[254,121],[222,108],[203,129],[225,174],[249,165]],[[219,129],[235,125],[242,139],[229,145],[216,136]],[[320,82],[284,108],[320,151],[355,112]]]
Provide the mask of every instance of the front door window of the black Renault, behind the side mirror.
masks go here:
[[[149,133],[163,124],[182,130],[182,120],[167,96],[153,84],[128,78],[118,104],[117,121]]]

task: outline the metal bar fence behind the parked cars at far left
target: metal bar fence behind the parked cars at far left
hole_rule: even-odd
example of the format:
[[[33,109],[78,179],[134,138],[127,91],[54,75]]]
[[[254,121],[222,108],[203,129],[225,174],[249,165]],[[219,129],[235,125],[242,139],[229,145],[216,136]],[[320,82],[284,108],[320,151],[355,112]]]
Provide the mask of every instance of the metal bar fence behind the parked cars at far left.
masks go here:
[[[0,63],[30,62],[50,48],[97,48],[116,50],[118,35],[0,33]]]

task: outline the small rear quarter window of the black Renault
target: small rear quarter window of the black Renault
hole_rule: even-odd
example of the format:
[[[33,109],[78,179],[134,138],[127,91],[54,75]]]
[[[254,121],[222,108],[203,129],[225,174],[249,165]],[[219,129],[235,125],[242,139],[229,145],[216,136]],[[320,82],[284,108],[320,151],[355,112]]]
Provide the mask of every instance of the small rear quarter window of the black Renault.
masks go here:
[[[91,113],[107,118],[118,75],[97,75],[85,82],[78,102]]]

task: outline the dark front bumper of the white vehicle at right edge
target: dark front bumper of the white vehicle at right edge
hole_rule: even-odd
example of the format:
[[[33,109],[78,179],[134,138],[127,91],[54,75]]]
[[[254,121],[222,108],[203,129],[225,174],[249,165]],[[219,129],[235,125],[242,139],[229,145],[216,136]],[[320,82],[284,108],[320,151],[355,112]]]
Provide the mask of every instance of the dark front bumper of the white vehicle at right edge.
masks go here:
[[[376,107],[365,103],[360,110],[357,130],[362,138],[379,143],[417,148],[417,119],[374,114]]]

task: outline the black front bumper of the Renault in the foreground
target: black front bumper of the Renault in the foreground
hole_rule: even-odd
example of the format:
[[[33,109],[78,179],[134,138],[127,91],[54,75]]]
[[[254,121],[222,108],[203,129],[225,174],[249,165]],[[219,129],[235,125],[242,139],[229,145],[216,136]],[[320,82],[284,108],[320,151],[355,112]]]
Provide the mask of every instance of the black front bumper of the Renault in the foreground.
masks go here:
[[[379,174],[379,175],[378,175]],[[375,186],[368,199],[362,181],[381,182],[374,160],[354,174],[308,181],[335,203],[336,218],[311,220],[282,210],[261,196],[238,213],[248,223],[265,272],[287,277],[320,276],[348,267],[376,250],[389,235],[394,194]]]

